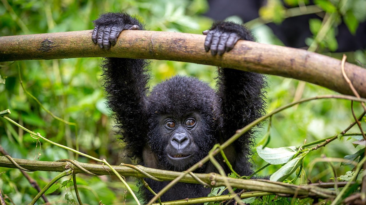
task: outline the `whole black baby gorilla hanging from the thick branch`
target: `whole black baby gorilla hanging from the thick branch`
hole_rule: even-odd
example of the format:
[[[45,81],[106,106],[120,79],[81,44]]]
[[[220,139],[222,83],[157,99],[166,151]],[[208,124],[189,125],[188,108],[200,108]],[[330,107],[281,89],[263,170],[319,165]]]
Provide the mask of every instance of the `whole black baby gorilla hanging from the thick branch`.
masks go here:
[[[115,45],[123,30],[143,30],[135,17],[127,13],[105,13],[94,21],[92,40],[101,48]],[[212,55],[230,51],[239,39],[254,40],[243,26],[232,22],[216,22],[204,45]],[[156,169],[183,171],[205,157],[216,143],[223,143],[239,128],[264,114],[264,77],[229,68],[220,68],[217,92],[205,82],[192,77],[175,76],[147,92],[148,63],[144,59],[105,58],[104,88],[108,106],[114,112],[116,127],[126,143],[129,157],[141,165]],[[241,136],[226,148],[225,154],[240,175],[250,175],[250,145],[253,131]],[[220,156],[216,157],[226,173],[231,171]],[[205,163],[196,173],[217,172]],[[160,191],[168,182],[146,179]],[[210,188],[178,183],[162,197],[162,201],[205,197]],[[153,195],[142,191],[144,199]]]

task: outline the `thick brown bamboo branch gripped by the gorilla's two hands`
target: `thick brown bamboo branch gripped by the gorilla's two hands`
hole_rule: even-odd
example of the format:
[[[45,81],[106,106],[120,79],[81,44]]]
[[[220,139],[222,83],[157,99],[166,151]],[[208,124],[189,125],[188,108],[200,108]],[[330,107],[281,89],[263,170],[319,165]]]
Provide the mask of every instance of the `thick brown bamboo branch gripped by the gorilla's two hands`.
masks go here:
[[[295,78],[353,95],[341,61],[306,50],[240,40],[223,56],[203,47],[205,36],[161,31],[123,31],[110,50],[91,41],[91,30],[0,37],[0,62],[80,57],[146,58],[193,62]],[[346,74],[366,97],[366,69],[351,63]]]

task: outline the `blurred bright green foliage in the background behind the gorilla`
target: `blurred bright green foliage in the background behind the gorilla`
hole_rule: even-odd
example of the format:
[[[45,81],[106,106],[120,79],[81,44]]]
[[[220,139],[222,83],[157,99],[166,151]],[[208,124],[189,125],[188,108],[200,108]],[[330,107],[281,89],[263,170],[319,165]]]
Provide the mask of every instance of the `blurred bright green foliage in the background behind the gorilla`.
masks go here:
[[[276,1],[273,2],[276,3]],[[307,1],[301,2],[306,3]],[[319,4],[324,2],[329,3],[329,1],[318,1]],[[349,4],[355,4],[355,2],[348,1]],[[272,15],[272,18],[275,19],[281,13],[276,13],[275,11],[278,9],[274,8],[269,7],[265,10],[267,12],[262,13]],[[348,7],[348,10],[352,12],[352,8],[355,7]],[[212,19],[202,15],[207,9],[206,0],[0,0],[0,35],[89,30],[93,28],[91,21],[97,19],[98,15],[105,11],[127,11],[137,14],[145,21],[149,30],[201,34],[213,22]],[[240,21],[236,16],[231,16],[229,19]],[[359,20],[354,19],[354,21]],[[277,23],[281,23],[281,18],[277,20]],[[313,27],[316,27],[315,24],[313,23]],[[261,23],[251,24],[251,26],[253,26],[254,34],[259,37],[259,42],[281,45],[267,26]],[[324,54],[341,58],[342,53],[329,52],[332,50],[329,47],[337,46],[334,43],[335,35],[336,32],[327,33],[328,42],[324,41],[322,44],[325,48],[323,49]],[[311,41],[311,39],[309,40]],[[365,50],[348,52],[348,61],[355,63],[355,59],[358,59],[361,63],[366,64],[365,54]],[[5,84],[0,84],[0,111],[10,109],[9,117],[11,119],[34,132],[40,132],[42,136],[53,142],[71,148],[78,146],[80,151],[96,158],[105,158],[113,165],[119,165],[121,162],[134,163],[130,159],[123,158],[123,144],[113,134],[113,120],[109,117],[109,111],[105,107],[105,93],[101,89],[100,61],[100,58],[75,58],[1,63],[0,79],[7,78],[4,78]],[[53,119],[35,100],[27,96],[19,83],[18,66],[26,90],[54,115],[76,123],[77,130],[74,126]],[[153,79],[149,82],[150,86],[176,74],[195,76],[213,87],[215,86],[214,78],[217,74],[216,68],[213,66],[153,60],[151,68]],[[299,84],[297,80],[268,76],[268,84],[268,111],[292,102],[298,93],[296,92]],[[302,97],[319,94],[335,94],[335,92],[317,85],[306,84]],[[357,116],[362,112],[359,103],[355,103],[355,112]],[[333,136],[345,129],[352,119],[348,101],[307,102],[273,117],[270,141],[267,146],[272,148],[299,146],[304,143],[304,140],[309,143]],[[265,135],[267,127],[268,122],[259,129],[257,142]],[[363,127],[366,129],[365,123],[363,123]],[[355,127],[351,131],[357,132],[358,129]],[[359,147],[352,145],[353,140],[347,139],[343,138],[341,142],[336,140],[326,147],[311,152],[304,160],[305,171],[308,170],[310,162],[316,158],[325,156],[343,158],[344,155],[353,154],[359,150]],[[91,162],[42,140],[37,144],[36,139],[31,138],[29,134],[3,118],[0,118],[0,144],[14,158],[48,161],[67,158]],[[253,160],[257,169],[266,165],[266,162],[257,155],[254,155]],[[340,166],[339,163],[334,163],[334,166],[337,175],[343,175],[353,168],[352,166]],[[279,167],[271,165],[261,171],[260,175],[272,174]],[[41,187],[44,187],[57,175],[57,173],[51,172],[29,174]],[[307,177],[312,182],[329,181],[333,174],[327,163],[320,162],[314,166],[311,173],[307,173]],[[66,177],[64,180],[69,178]],[[135,202],[129,194],[127,194],[127,198],[123,197],[122,183],[112,179],[114,177],[111,176],[77,175],[82,201],[86,204],[96,204],[100,200],[103,204],[123,204],[126,200],[126,203],[134,204]],[[137,190],[134,179],[130,179],[129,182]],[[37,191],[16,169],[0,167],[0,188],[8,197],[5,201],[10,202],[10,198],[14,204],[29,203],[37,194]],[[46,196],[55,204],[65,204],[64,194],[66,192],[71,193],[71,197],[76,199],[72,189],[72,187],[60,188]],[[37,204],[42,203],[42,200],[37,202]]]

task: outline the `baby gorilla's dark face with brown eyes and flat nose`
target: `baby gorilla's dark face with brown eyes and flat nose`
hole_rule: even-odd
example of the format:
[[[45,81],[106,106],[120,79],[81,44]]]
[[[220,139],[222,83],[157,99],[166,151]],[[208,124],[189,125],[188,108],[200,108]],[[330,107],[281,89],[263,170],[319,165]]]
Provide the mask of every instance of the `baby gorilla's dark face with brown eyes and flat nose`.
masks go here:
[[[214,144],[209,125],[199,112],[182,116],[162,115],[149,144],[158,163],[168,170],[183,171],[208,154]]]

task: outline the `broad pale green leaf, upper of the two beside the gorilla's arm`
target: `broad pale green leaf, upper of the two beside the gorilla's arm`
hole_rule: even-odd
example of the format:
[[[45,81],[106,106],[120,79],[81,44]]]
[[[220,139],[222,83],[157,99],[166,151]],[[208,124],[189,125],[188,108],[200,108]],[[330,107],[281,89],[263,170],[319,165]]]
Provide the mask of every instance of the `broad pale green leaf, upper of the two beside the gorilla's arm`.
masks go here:
[[[266,162],[272,165],[281,165],[292,159],[297,153],[296,147],[279,147],[279,148],[268,148],[263,146],[257,147],[258,155]]]

